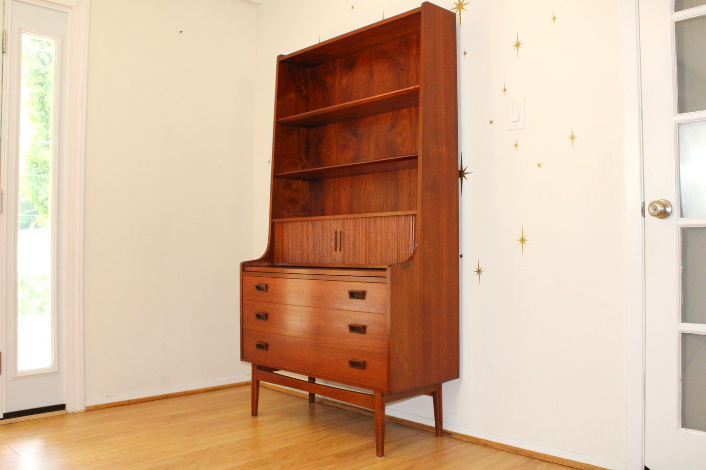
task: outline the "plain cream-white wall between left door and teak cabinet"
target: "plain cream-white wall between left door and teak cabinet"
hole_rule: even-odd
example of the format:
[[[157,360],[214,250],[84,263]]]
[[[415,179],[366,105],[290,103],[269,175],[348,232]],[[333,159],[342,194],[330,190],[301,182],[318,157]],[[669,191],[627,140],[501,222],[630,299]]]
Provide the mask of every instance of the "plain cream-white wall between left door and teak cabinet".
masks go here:
[[[92,0],[86,404],[241,380],[256,6]]]

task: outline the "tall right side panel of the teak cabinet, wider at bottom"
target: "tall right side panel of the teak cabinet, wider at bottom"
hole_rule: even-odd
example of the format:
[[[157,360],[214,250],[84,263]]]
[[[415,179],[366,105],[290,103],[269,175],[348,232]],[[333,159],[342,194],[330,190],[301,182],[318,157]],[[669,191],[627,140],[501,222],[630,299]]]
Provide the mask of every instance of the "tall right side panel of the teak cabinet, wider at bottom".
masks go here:
[[[455,38],[453,13],[423,4],[418,248],[392,272],[391,366],[401,370],[393,368],[393,392],[459,376]],[[397,279],[409,284],[397,291]]]

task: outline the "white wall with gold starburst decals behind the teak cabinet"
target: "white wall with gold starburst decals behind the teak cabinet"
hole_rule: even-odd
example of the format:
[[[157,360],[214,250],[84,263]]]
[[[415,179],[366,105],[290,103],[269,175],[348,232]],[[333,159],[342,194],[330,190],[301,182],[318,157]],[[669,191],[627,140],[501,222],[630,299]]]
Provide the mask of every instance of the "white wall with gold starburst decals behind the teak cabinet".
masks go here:
[[[417,6],[262,1],[253,256],[267,243],[277,54]],[[619,7],[500,0],[468,2],[462,11],[460,148],[473,173],[462,195],[461,378],[444,387],[449,430],[611,469],[626,462]],[[516,97],[526,98],[527,127],[508,131],[507,101]],[[426,423],[433,416],[426,398],[388,412]]]

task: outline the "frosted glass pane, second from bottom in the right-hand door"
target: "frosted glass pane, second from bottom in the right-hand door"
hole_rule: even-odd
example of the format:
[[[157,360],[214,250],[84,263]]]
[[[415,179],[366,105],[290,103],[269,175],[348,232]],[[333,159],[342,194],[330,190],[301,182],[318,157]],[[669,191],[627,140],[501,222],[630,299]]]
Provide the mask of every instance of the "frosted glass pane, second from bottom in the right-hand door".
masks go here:
[[[681,229],[681,321],[706,323],[706,227]]]

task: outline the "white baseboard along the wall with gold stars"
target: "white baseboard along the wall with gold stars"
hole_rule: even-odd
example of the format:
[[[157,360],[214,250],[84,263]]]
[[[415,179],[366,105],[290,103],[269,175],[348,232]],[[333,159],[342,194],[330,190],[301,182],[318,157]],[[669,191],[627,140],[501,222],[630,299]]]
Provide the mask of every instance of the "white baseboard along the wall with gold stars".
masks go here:
[[[426,418],[424,416],[407,413],[405,411],[398,411],[390,407],[385,409],[385,414],[387,414],[388,416],[395,416],[397,418],[406,419],[407,421],[414,421],[415,423],[426,424],[427,426],[431,427],[434,426],[433,418]],[[550,447],[548,445],[538,444],[537,442],[530,442],[527,440],[508,438],[504,435],[486,433],[485,431],[481,431],[474,428],[467,428],[465,426],[457,426],[451,423],[444,423],[443,428],[454,433],[460,433],[471,436],[472,438],[499,442],[500,444],[510,445],[513,447],[520,447],[520,449],[538,452],[539,454],[553,455],[554,457],[560,457],[562,459],[573,460],[574,462],[582,462],[584,464],[599,466],[604,469],[626,470],[626,464],[624,462],[615,462],[613,460],[604,459],[602,457],[595,457],[594,455],[587,455],[581,454],[580,452],[558,449],[557,447]]]

